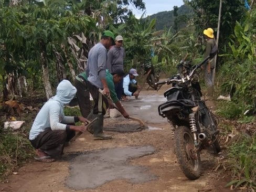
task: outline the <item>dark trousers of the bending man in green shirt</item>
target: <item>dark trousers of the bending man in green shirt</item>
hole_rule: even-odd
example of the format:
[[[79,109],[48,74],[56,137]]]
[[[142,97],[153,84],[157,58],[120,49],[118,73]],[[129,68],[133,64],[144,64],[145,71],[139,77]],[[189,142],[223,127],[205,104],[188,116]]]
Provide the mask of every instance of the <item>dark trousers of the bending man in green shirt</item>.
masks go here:
[[[88,90],[87,81],[80,82],[77,79],[74,80],[74,87],[77,88],[77,100],[84,118],[87,118],[91,111],[90,92]]]

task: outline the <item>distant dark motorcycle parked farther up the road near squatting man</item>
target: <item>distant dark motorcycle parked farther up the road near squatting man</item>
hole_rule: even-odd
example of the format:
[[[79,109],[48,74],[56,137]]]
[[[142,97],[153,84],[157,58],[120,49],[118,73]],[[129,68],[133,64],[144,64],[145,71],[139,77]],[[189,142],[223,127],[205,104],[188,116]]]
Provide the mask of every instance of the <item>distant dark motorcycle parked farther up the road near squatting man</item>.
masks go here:
[[[157,85],[155,83],[159,81],[159,74],[155,74],[155,70],[152,63],[144,64],[144,70],[144,75],[146,74],[146,82],[148,86],[157,90]]]

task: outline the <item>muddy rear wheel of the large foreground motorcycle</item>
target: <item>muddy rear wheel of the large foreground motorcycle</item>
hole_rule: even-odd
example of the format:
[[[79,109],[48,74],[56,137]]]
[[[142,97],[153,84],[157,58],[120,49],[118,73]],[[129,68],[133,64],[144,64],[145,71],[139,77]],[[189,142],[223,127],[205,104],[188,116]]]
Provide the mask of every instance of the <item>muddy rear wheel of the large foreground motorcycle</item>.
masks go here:
[[[175,130],[175,151],[180,168],[190,180],[200,177],[201,159],[200,153],[194,145],[193,136],[186,126],[179,126]]]

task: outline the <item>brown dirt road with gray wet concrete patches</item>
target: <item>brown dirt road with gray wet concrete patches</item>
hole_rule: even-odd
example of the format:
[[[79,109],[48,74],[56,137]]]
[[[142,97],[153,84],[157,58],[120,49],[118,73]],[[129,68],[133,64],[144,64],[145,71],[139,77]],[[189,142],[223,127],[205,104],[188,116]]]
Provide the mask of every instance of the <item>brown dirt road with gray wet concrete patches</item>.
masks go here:
[[[61,161],[31,162],[17,170],[0,191],[230,191],[228,178],[216,180],[217,157],[211,151],[201,154],[202,175],[188,180],[179,168],[174,142],[166,119],[157,113],[164,102],[161,91],[144,89],[140,99],[122,102],[130,115],[143,119],[150,129],[138,132],[108,132],[113,140],[95,141],[84,133],[65,148]],[[122,117],[105,119],[106,127],[140,125]]]

